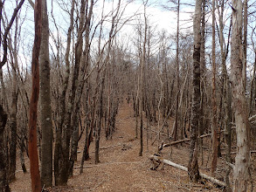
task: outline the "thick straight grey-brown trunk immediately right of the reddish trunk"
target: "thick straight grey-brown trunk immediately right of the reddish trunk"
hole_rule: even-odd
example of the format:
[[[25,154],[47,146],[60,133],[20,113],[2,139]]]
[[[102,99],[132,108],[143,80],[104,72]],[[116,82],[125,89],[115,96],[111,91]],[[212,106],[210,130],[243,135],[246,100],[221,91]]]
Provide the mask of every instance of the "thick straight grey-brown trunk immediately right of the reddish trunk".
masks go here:
[[[42,40],[40,47],[40,120],[42,131],[41,181],[52,186],[52,107],[50,98],[49,23],[47,3],[42,0]]]

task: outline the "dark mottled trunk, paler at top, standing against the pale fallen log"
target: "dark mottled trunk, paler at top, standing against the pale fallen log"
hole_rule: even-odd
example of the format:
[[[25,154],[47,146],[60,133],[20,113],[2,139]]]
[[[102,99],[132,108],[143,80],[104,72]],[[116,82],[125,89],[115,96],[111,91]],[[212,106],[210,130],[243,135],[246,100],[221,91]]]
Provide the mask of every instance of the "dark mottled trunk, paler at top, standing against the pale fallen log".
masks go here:
[[[190,132],[190,160],[188,165],[188,174],[190,181],[196,182],[199,178],[197,162],[197,135],[200,108],[200,21],[202,13],[202,0],[196,1],[195,15],[193,20],[194,31],[194,52],[193,52],[193,96],[192,96],[192,115],[191,115],[191,132]]]

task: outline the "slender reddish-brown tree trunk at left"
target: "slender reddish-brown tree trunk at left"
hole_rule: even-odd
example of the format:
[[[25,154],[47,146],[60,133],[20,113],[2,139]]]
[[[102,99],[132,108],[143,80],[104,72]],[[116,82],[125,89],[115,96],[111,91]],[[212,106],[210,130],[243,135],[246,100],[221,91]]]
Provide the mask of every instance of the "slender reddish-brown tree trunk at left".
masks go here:
[[[38,165],[38,147],[37,147],[37,119],[38,119],[38,95],[39,95],[39,51],[41,44],[42,29],[42,0],[35,2],[35,39],[32,52],[32,90],[30,103],[30,120],[29,120],[29,155],[31,165],[31,189],[32,192],[40,192],[41,181]]]

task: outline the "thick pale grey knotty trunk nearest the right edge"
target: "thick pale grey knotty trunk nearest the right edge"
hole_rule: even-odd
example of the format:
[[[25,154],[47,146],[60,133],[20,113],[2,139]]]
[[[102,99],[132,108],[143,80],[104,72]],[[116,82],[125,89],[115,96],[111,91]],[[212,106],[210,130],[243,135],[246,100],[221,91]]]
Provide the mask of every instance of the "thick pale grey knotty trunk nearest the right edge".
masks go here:
[[[237,131],[238,153],[234,168],[233,191],[245,191],[249,180],[249,122],[246,108],[245,84],[243,82],[243,49],[242,49],[242,23],[243,5],[241,0],[232,0],[232,44],[231,69],[233,107],[235,109],[235,122]]]

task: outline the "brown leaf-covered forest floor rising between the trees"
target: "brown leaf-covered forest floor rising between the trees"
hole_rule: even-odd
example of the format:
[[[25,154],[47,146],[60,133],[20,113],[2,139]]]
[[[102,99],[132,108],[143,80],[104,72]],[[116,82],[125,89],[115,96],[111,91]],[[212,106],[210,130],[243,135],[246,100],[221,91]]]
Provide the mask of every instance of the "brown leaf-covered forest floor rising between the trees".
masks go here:
[[[155,128],[157,130],[157,126]],[[116,118],[116,131],[112,140],[106,140],[102,132],[100,139],[100,163],[94,164],[94,141],[90,147],[90,160],[85,161],[83,173],[80,174],[80,159],[84,141],[80,141],[78,161],[75,163],[73,176],[69,179],[67,186],[54,187],[50,191],[223,191],[216,188],[211,182],[204,181],[192,183],[183,170],[170,166],[161,166],[157,170],[151,170],[152,162],[149,160],[151,154],[155,154],[160,141],[152,146],[152,140],[156,133],[149,133],[147,145],[144,139],[143,155],[139,156],[140,141],[135,139],[135,117],[132,106],[126,102],[121,104]],[[147,138],[144,130],[144,138]],[[161,139],[162,140],[162,139]],[[207,140],[207,139],[206,139]],[[209,143],[209,141],[208,141]],[[148,146],[148,147],[147,147]],[[211,144],[204,146],[210,149]],[[210,175],[211,163],[209,156],[211,150],[204,149],[204,164],[199,156],[200,171]],[[187,167],[189,161],[189,142],[176,147],[163,148],[164,159],[174,161]],[[29,160],[26,158],[29,168]],[[218,161],[218,172],[224,172],[226,165]],[[222,174],[223,175],[223,174]],[[254,177],[254,175],[253,175]],[[254,180],[255,181],[255,180]],[[255,185],[255,183],[254,183]],[[17,161],[17,179],[10,183],[11,191],[31,191],[30,174],[24,174]]]

